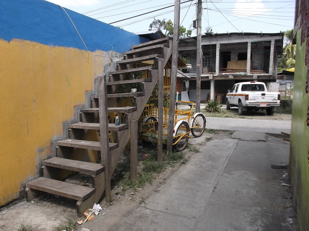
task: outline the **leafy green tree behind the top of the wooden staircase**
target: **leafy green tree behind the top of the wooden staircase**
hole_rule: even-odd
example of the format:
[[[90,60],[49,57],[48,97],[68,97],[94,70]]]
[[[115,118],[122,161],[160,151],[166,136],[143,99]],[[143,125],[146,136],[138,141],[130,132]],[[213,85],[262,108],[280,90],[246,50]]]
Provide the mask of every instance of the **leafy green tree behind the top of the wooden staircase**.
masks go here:
[[[160,30],[165,36],[173,37],[174,34],[174,25],[171,19],[166,21],[166,18],[163,20],[155,19],[150,23],[149,30]],[[179,38],[186,38],[192,34],[192,30],[186,30],[184,26],[179,27]]]

